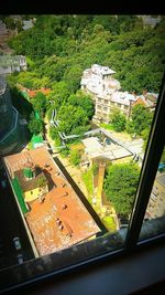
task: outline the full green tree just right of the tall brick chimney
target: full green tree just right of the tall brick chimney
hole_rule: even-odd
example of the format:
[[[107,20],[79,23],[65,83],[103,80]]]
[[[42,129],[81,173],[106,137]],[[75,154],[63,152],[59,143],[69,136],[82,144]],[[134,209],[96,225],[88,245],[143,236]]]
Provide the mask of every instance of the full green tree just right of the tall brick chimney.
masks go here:
[[[113,204],[117,213],[129,218],[131,213],[140,169],[133,164],[114,164],[109,166],[105,178],[105,192]]]

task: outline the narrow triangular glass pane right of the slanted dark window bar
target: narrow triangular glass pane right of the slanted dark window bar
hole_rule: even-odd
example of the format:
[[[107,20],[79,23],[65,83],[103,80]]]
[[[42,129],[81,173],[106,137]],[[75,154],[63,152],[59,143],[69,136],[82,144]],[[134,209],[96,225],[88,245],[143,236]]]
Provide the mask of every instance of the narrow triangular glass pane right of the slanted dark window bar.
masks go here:
[[[165,232],[165,148],[146,208],[140,240]]]

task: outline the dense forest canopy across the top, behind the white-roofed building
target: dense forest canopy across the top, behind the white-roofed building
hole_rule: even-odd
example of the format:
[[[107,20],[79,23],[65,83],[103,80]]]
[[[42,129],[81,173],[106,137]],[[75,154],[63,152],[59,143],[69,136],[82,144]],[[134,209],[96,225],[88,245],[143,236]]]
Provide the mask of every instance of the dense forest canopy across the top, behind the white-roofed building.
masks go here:
[[[164,35],[164,18],[155,28],[144,29],[135,15],[37,15],[35,25],[9,44],[30,59],[33,78],[46,77],[48,86],[65,81],[76,92],[82,71],[99,63],[117,72],[124,91],[141,93],[160,89]]]

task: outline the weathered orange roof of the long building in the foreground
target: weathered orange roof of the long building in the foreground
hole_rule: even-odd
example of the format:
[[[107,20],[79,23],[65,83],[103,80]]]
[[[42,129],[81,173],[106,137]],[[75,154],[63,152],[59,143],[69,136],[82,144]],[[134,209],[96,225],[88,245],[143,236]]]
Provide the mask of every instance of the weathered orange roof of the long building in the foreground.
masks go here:
[[[25,219],[41,255],[79,243],[100,231],[79,197],[44,147],[4,158],[10,175],[21,169],[25,159],[44,169],[54,182],[43,202],[30,202]]]

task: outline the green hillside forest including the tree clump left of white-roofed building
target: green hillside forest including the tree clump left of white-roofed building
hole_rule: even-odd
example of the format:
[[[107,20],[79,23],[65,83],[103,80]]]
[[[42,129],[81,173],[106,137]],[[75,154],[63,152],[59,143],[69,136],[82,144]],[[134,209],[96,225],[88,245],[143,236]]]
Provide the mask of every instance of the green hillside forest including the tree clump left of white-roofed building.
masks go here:
[[[82,72],[94,63],[116,71],[122,91],[158,93],[165,67],[164,17],[154,28],[144,28],[136,15],[34,17],[33,28],[23,31],[19,23],[18,34],[9,40],[13,54],[25,55],[28,61],[28,71],[12,74],[9,83],[11,87],[51,88],[45,102],[40,95],[41,105],[36,97],[32,104],[41,118],[45,113],[51,118],[56,108],[61,131],[82,133],[89,127],[94,104],[79,88]],[[30,119],[34,133],[34,113]],[[42,120],[37,125],[41,131]]]

